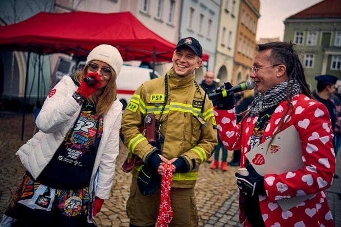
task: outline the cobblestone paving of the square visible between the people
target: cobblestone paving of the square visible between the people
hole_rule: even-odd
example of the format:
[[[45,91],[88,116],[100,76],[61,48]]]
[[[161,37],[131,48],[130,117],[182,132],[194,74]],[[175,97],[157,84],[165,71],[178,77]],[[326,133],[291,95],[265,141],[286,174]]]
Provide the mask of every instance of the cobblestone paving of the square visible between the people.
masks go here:
[[[24,144],[21,139],[22,117],[17,113],[0,112],[0,216],[6,210],[13,195],[17,181],[25,169],[15,156],[16,150]],[[24,141],[32,137],[34,116],[26,116]],[[131,175],[122,171],[121,165],[127,155],[127,149],[120,144],[117,168],[112,184],[110,198],[105,200],[102,211],[96,220],[99,226],[128,226],[129,220],[125,205],[129,196]],[[232,153],[229,152],[229,157]],[[338,155],[338,163],[341,157]],[[238,221],[238,194],[234,173],[238,167],[231,167],[227,172],[220,169],[213,171],[209,163],[200,166],[196,184],[196,201],[199,213],[199,226],[242,226]],[[336,173],[341,177],[341,166]],[[335,179],[327,190],[328,203],[331,207],[336,226],[341,226],[341,179]],[[1,219],[0,217],[0,219]]]

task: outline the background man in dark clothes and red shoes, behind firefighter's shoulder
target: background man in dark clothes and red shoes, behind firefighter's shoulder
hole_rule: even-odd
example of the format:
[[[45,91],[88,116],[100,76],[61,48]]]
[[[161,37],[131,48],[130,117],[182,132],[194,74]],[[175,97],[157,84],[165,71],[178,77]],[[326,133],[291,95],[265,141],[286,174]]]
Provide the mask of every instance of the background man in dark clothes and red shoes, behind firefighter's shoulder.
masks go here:
[[[204,77],[204,80],[202,80],[200,84],[201,88],[206,90],[207,89],[207,94],[211,93],[212,90],[217,88],[216,82],[214,81],[214,73],[207,71]],[[213,105],[214,105],[213,101]],[[226,165],[226,160],[228,159],[228,150],[222,145],[219,134],[217,131],[217,139],[218,139],[218,144],[214,147],[214,162],[211,165],[211,169],[217,169],[219,166],[219,153],[220,149],[222,151],[222,156],[221,156],[221,170],[222,171],[228,171],[228,165]],[[212,162],[211,159],[207,159],[207,162]]]

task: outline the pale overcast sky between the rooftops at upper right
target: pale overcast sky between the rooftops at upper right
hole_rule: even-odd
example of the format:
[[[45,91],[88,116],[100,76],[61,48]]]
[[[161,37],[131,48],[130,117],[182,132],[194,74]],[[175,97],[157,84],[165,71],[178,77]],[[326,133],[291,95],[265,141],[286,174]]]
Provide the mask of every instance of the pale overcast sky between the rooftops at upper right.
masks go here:
[[[283,41],[283,21],[318,2],[321,0],[260,0],[256,40],[279,37]]]

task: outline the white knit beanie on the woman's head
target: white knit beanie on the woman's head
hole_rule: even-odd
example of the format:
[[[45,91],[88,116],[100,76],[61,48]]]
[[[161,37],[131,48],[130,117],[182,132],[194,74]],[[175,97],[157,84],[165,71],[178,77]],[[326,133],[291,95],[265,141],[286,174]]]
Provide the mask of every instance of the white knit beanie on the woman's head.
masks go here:
[[[115,47],[102,44],[93,48],[86,58],[86,65],[93,60],[108,64],[116,72],[116,77],[119,76],[123,60],[120,52]]]

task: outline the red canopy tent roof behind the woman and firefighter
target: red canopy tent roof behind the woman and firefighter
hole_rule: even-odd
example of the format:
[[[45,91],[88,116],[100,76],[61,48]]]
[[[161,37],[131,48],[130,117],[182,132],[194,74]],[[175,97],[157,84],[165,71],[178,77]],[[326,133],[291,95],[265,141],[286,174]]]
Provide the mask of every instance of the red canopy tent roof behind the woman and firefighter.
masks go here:
[[[99,44],[117,47],[124,61],[169,62],[175,48],[130,12],[41,12],[23,22],[0,27],[3,50],[81,56]],[[208,59],[204,54],[203,61]]]

